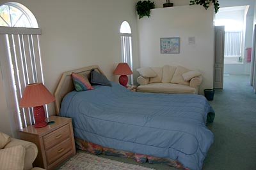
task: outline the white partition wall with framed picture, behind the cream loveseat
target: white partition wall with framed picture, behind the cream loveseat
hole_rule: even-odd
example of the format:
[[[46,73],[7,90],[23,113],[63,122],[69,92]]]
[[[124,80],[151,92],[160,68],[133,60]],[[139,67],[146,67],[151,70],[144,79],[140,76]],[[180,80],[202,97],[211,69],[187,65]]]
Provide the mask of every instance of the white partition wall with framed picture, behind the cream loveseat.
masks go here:
[[[138,20],[141,67],[184,66],[198,69],[204,76],[202,90],[212,88],[214,62],[213,8],[175,6],[156,8],[151,17]],[[188,37],[195,36],[195,45]],[[161,54],[160,38],[180,37],[180,53]]]

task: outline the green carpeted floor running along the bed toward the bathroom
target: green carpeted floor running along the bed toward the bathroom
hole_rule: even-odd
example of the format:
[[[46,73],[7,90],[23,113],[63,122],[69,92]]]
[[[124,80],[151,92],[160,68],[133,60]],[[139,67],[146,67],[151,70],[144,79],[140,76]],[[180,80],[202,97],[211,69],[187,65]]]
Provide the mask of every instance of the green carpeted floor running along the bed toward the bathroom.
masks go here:
[[[249,76],[224,76],[224,89],[216,89],[210,101],[216,112],[214,123],[207,126],[214,133],[214,143],[204,161],[204,170],[256,169],[256,94]],[[133,159],[110,157],[129,164]],[[178,170],[164,164],[139,164],[157,170]]]

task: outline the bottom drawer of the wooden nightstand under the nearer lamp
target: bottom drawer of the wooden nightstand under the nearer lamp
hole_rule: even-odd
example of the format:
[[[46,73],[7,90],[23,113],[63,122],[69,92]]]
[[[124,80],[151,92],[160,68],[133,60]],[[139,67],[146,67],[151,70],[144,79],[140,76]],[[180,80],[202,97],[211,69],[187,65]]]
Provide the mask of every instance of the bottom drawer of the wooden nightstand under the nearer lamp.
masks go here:
[[[70,152],[72,148],[71,138],[65,139],[65,141],[61,142],[60,145],[54,146],[50,150],[46,151],[47,164],[51,164],[55,160],[59,159],[65,153]]]

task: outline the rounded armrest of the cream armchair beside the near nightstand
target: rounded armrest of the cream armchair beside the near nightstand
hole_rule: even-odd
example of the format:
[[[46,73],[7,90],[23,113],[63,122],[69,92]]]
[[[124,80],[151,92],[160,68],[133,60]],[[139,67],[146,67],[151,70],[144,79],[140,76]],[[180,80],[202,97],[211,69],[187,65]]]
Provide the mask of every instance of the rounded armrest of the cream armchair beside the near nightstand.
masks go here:
[[[34,143],[29,141],[23,141],[20,139],[11,138],[10,143],[8,143],[4,148],[10,148],[12,146],[22,145],[26,149],[25,153],[25,162],[24,162],[24,170],[32,169],[32,164],[36,159],[38,150]]]

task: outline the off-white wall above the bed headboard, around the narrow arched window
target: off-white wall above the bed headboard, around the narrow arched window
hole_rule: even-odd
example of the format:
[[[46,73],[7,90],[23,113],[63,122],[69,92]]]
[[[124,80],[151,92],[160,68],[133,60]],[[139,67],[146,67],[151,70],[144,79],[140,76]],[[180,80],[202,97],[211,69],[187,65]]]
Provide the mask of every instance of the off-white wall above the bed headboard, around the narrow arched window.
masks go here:
[[[12,0],[1,0],[0,4]],[[97,64],[116,80],[113,70],[121,60],[120,25],[132,30],[134,69],[139,67],[135,0],[15,0],[35,15],[42,28],[40,50],[45,86],[52,93],[61,73]],[[54,115],[50,104],[50,115]],[[2,117],[0,117],[2,120]]]

